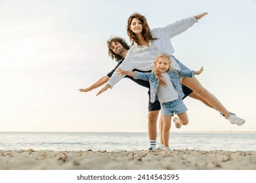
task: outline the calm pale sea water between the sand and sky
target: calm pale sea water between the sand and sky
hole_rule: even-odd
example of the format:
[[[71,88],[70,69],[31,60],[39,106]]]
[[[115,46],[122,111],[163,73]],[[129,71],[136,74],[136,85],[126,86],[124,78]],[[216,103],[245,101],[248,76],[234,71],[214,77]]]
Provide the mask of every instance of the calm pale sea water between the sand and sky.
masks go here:
[[[256,133],[172,132],[169,145],[181,150],[256,151]],[[0,132],[0,150],[119,151],[148,147],[148,133]]]

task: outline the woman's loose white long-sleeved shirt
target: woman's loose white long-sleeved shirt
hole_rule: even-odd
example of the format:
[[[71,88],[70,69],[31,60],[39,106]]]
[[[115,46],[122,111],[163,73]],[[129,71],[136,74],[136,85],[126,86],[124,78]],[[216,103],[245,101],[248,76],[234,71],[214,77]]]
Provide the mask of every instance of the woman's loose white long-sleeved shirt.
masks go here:
[[[139,69],[140,71],[153,71],[154,69],[154,59],[158,54],[167,53],[169,55],[174,53],[173,45],[171,44],[171,38],[175,35],[186,31],[189,27],[194,25],[198,20],[192,17],[184,18],[173,24],[167,25],[165,27],[159,27],[152,29],[152,36],[157,38],[155,41],[149,42],[148,46],[138,46],[135,42],[127,52],[126,58],[123,63],[119,65],[118,68],[133,71],[133,69]],[[175,69],[180,70],[181,67],[177,64],[175,60]],[[120,76],[117,70],[114,72],[110,80],[106,84],[110,85],[112,88],[123,76]]]

